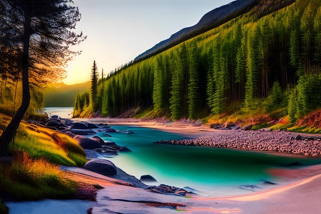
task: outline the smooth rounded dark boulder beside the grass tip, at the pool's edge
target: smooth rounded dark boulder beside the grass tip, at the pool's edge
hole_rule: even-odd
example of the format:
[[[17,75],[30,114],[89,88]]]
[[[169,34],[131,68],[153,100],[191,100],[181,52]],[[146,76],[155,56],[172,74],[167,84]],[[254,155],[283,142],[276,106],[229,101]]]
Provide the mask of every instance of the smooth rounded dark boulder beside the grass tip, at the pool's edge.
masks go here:
[[[116,166],[108,160],[92,159],[84,165],[84,168],[104,176],[114,176],[117,174]]]

